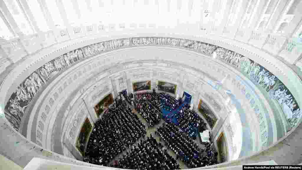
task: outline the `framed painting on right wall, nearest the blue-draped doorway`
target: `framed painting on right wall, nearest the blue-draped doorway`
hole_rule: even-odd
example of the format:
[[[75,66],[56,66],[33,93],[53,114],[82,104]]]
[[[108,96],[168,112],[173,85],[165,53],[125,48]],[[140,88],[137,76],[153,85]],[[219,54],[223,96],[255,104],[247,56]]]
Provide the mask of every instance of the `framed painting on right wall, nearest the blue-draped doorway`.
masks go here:
[[[213,111],[209,108],[209,106],[207,106],[207,104],[202,100],[199,101],[198,111],[202,114],[202,116],[204,116],[204,119],[207,120],[207,123],[210,125],[211,129],[213,129],[217,121],[217,117],[215,116]]]

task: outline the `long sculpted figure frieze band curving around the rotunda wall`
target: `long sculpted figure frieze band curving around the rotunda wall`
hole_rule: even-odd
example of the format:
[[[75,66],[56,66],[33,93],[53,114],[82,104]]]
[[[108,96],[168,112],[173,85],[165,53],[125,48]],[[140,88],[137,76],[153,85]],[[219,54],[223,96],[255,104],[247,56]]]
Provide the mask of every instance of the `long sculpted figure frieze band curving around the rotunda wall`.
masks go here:
[[[65,70],[67,67],[78,63],[84,58],[92,57],[114,49],[146,45],[184,48],[206,55],[212,55],[215,52],[217,54],[217,57],[221,61],[226,62],[237,70],[241,71],[241,73],[249,77],[255,84],[259,84],[259,86],[266,90],[270,94],[271,99],[278,102],[291,127],[295,126],[301,117],[300,108],[297,105],[296,100],[294,99],[291,92],[284,86],[284,84],[264,67],[262,67],[258,63],[255,63],[253,60],[242,56],[241,54],[200,41],[165,37],[140,37],[123,38],[91,44],[69,51],[47,62],[36,71],[34,71],[29,77],[27,77],[27,79],[25,79],[16,89],[15,93],[11,95],[8,103],[5,106],[6,118],[11,123],[11,125],[16,130],[18,130],[21,124],[21,118],[24,115],[28,104],[37,94],[37,91],[51,77]],[[290,49],[292,49],[292,45],[288,45],[287,49],[289,49],[288,51],[291,51]],[[92,68],[90,67],[89,70],[91,69]],[[175,77],[171,77],[168,74],[158,74],[164,79],[176,81]],[[64,88],[65,87],[67,87],[67,82],[66,85],[64,84]],[[60,91],[62,92],[63,89],[61,89]],[[54,99],[56,100],[55,96]],[[50,101],[50,105],[51,103],[53,102]],[[48,114],[47,110],[45,113]]]

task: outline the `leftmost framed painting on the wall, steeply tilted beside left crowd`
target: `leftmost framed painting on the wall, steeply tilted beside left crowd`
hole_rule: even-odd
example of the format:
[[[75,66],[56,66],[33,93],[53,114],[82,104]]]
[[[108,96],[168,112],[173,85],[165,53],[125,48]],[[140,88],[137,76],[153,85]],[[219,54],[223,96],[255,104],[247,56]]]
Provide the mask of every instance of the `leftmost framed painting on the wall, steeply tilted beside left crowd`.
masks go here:
[[[92,125],[89,119],[86,117],[85,122],[82,125],[81,131],[79,133],[78,139],[76,141],[76,147],[84,156],[85,154],[85,147],[88,142],[89,134],[92,130]]]

